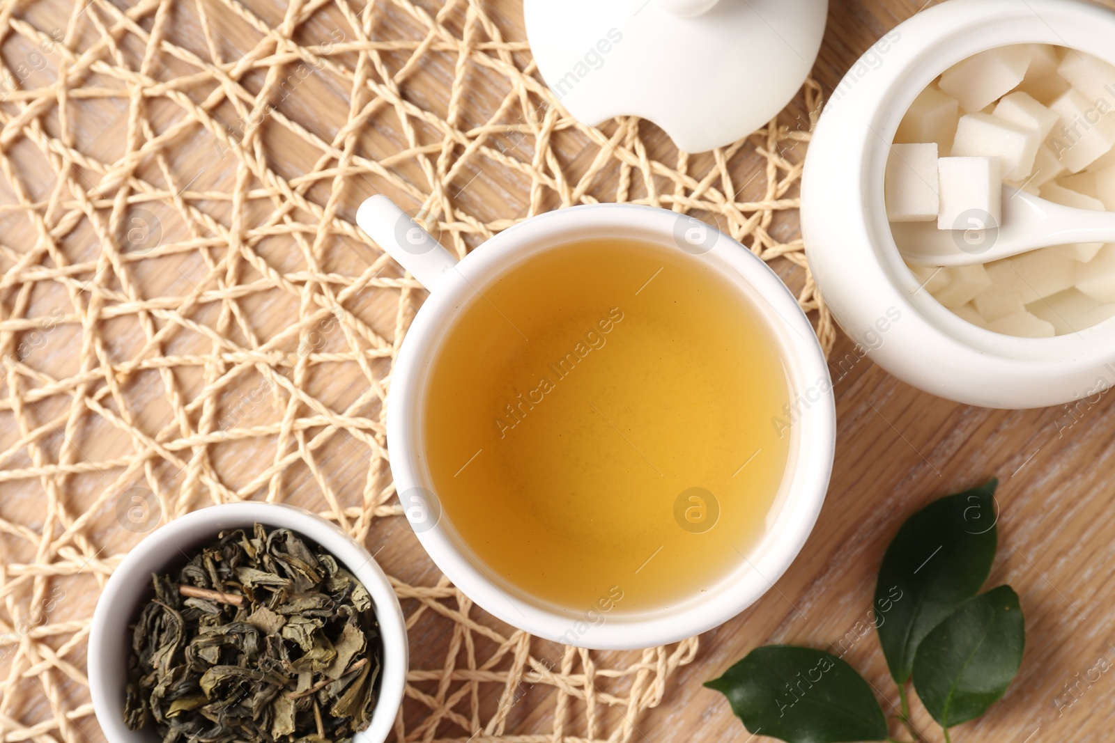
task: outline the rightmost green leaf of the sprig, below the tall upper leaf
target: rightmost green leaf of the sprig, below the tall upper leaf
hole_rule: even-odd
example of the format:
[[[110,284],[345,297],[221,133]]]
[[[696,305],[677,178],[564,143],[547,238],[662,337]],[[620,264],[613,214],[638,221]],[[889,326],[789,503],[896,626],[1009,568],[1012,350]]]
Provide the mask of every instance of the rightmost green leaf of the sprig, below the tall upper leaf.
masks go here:
[[[942,727],[972,720],[1010,686],[1025,646],[1018,595],[999,586],[961,604],[925,636],[913,661],[913,687]]]

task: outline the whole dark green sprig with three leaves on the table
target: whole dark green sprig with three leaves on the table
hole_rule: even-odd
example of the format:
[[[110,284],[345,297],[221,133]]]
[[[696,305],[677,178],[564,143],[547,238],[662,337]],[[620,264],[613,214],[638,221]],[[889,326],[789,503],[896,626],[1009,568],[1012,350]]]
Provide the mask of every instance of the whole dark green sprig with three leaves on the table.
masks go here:
[[[883,555],[873,624],[898,685],[895,715],[913,740],[912,682],[940,725],[973,720],[997,702],[1018,673],[1026,627],[1010,586],[979,590],[998,540],[998,480],[929,504],[905,520]],[[825,651],[757,647],[705,684],[728,697],[747,731],[788,743],[895,741],[867,682]]]

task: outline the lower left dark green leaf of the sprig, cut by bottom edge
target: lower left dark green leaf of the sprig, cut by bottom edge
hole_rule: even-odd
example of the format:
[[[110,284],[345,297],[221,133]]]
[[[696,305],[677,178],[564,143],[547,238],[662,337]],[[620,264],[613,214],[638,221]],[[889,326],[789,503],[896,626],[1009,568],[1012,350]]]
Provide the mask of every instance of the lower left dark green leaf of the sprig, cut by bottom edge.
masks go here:
[[[753,734],[789,743],[886,739],[886,720],[867,682],[824,651],[757,647],[705,685],[728,697]]]

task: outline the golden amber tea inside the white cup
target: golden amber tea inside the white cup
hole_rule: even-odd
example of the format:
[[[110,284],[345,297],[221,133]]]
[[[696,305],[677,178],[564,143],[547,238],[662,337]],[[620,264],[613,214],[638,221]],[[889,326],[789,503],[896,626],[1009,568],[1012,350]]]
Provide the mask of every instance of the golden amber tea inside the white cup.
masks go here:
[[[677,248],[575,243],[456,323],[428,382],[426,465],[488,573],[593,620],[741,563],[786,469],[788,385],[727,277]]]

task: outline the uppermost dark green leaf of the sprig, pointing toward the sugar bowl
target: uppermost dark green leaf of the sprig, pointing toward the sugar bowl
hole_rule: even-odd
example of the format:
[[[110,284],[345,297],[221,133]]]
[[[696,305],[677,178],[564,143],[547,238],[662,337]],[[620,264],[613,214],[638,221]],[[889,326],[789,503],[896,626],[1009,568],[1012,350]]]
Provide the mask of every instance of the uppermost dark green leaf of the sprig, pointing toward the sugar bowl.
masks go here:
[[[998,480],[934,500],[894,536],[875,584],[875,626],[891,676],[910,678],[929,632],[979,592],[995,559]]]

